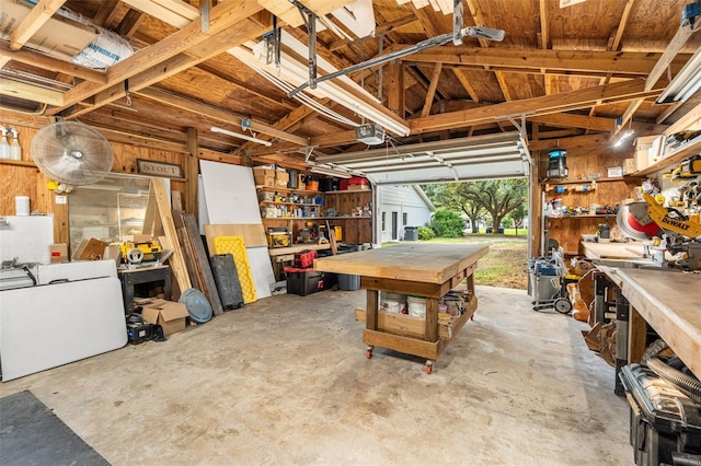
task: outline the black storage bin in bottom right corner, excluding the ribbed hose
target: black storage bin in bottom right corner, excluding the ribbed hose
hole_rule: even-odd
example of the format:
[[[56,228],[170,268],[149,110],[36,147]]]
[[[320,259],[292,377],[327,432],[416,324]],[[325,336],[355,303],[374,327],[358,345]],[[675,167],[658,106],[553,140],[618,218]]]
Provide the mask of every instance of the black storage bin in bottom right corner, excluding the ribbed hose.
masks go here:
[[[631,405],[637,466],[676,464],[673,454],[701,455],[701,406],[640,364],[624,365],[619,377]]]

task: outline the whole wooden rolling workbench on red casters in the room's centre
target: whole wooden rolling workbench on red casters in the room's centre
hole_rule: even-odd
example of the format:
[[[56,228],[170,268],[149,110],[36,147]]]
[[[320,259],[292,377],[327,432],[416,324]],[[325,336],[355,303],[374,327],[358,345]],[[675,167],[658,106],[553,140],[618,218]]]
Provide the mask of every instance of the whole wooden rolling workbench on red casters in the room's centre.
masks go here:
[[[314,269],[360,276],[360,287],[367,290],[366,328],[363,341],[368,357],[374,347],[426,358],[430,373],[433,361],[446,348],[450,338],[439,337],[438,300],[463,280],[474,293],[472,273],[478,259],[487,254],[489,246],[462,244],[402,244],[354,254],[323,257],[314,261]],[[378,325],[379,292],[411,294],[426,298],[425,328],[422,337],[398,335]],[[452,336],[470,315],[459,318]]]

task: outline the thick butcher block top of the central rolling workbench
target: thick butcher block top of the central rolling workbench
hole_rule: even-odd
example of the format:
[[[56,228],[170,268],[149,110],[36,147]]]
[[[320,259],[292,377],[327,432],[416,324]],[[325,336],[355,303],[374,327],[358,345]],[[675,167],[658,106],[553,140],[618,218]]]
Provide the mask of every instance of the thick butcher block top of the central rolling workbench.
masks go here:
[[[401,244],[319,258],[314,269],[440,284],[476,263],[489,251],[489,246],[473,244]]]

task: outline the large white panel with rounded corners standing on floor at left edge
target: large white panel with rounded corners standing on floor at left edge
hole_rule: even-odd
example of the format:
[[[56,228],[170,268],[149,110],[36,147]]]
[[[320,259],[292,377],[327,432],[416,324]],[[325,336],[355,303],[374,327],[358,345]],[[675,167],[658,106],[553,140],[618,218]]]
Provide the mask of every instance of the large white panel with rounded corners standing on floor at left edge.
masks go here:
[[[5,290],[0,300],[3,382],[127,343],[117,278]]]

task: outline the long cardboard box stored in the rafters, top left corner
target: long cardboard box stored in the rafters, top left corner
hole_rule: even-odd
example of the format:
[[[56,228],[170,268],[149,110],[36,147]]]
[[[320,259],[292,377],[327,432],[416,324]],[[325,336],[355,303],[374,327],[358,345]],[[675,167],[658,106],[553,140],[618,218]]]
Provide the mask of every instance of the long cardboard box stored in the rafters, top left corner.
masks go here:
[[[30,14],[30,11],[32,11],[32,4],[24,0],[2,0],[0,38],[9,40],[10,35]],[[56,58],[70,60],[96,36],[97,32],[92,26],[54,15],[34,33],[26,46]]]

